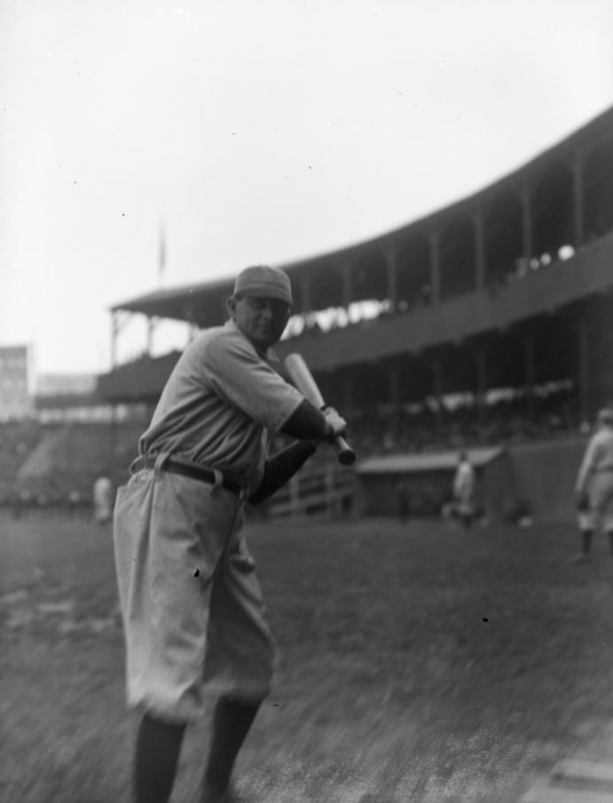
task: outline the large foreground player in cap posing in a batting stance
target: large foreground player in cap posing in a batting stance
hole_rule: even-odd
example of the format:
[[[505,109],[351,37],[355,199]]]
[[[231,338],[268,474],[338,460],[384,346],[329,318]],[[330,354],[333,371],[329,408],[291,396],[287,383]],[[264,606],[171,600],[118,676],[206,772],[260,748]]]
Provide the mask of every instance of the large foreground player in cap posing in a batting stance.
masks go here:
[[[346,422],[273,369],[293,305],[287,274],[247,268],[230,319],[186,348],[140,437],[114,509],[127,698],[142,714],[137,803],[165,803],[186,725],[216,696],[200,803],[232,800],[231,773],[271,689],[274,641],[241,531],[244,503],[279,489]],[[268,433],[295,443],[267,459]]]

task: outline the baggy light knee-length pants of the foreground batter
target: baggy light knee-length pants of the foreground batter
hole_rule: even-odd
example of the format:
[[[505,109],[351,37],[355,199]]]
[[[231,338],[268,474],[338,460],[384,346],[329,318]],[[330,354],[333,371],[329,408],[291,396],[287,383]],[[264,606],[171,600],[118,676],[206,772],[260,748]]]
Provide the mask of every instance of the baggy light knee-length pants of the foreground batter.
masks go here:
[[[159,468],[118,490],[130,707],[185,722],[200,716],[205,691],[251,700],[270,692],[275,643],[241,524],[235,494]]]

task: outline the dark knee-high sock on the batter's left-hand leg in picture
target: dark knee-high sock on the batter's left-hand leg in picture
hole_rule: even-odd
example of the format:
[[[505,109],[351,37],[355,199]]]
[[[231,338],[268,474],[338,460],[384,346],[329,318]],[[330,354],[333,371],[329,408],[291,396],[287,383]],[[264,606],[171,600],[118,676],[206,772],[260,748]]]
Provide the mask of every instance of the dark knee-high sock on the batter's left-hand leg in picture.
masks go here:
[[[185,725],[169,725],[145,714],[137,737],[136,803],[168,803],[184,734]]]

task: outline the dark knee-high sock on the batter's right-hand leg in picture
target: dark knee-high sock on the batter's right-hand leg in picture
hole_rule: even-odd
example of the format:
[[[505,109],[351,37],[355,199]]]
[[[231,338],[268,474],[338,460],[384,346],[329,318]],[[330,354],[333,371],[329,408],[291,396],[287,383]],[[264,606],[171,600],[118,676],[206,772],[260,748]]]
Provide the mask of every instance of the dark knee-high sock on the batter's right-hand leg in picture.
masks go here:
[[[232,767],[255,720],[261,700],[238,700],[221,697],[217,701],[213,717],[213,735],[204,783],[223,791],[230,783]]]

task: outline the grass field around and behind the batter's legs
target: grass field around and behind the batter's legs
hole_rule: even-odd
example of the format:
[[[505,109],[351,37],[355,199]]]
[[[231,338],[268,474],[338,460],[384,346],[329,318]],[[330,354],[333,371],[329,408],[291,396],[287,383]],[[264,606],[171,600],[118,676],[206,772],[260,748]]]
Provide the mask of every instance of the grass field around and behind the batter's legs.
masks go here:
[[[251,525],[279,673],[251,803],[515,803],[613,714],[613,560],[572,528]],[[110,529],[0,521],[4,803],[130,800]],[[205,720],[173,801],[196,800]]]

